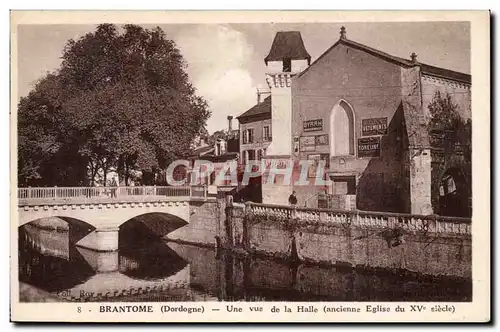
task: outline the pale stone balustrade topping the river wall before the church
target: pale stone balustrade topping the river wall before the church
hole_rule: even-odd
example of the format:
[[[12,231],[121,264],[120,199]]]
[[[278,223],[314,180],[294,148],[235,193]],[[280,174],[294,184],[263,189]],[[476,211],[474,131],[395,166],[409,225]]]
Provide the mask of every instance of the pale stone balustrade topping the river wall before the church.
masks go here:
[[[418,215],[392,212],[333,210],[302,208],[259,203],[247,203],[247,212],[254,216],[273,219],[297,219],[323,224],[365,226],[370,228],[395,228],[416,232],[471,234],[471,219],[436,215]]]

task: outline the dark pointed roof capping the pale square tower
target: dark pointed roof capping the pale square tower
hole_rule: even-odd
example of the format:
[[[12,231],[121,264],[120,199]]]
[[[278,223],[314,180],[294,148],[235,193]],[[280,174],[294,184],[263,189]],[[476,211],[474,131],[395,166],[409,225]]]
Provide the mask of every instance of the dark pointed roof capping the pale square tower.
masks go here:
[[[274,36],[271,51],[264,61],[267,65],[269,61],[282,61],[283,59],[311,62],[311,56],[307,53],[300,31],[279,31]]]

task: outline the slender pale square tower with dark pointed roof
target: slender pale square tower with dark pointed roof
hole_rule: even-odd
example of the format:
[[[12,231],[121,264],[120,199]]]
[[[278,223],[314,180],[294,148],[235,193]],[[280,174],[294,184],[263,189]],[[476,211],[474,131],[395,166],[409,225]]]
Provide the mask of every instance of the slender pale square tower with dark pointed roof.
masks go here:
[[[311,56],[299,31],[280,31],[264,59],[266,82],[271,91],[271,126],[277,135],[267,149],[268,156],[292,154],[292,77],[307,68]]]

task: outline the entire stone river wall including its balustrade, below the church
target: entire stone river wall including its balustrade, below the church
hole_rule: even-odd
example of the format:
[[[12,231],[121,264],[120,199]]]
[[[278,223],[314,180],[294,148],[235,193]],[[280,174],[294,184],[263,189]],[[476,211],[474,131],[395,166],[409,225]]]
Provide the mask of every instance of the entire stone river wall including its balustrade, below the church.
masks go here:
[[[328,215],[249,205],[231,215],[234,248],[281,259],[472,277],[470,224],[423,216]],[[228,243],[231,246],[231,243]]]

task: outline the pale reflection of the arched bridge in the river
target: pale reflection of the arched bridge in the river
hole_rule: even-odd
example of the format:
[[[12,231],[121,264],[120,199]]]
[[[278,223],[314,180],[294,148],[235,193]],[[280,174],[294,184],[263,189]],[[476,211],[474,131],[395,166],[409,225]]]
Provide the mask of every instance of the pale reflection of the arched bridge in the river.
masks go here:
[[[78,278],[64,276],[49,292],[69,300],[99,301],[150,292],[185,290],[189,285],[189,262],[165,243],[153,244],[144,254],[132,249],[97,252],[76,247],[67,232],[48,231],[26,225],[20,239],[24,277],[33,283],[51,283],[52,274],[73,270]],[[151,248],[151,244],[150,244]],[[151,249],[149,249],[151,250]],[[28,254],[27,254],[28,253]],[[148,256],[161,255],[163,263],[148,265]],[[111,271],[111,272],[105,272]],[[31,278],[30,278],[31,277]],[[25,280],[26,281],[26,280]]]

